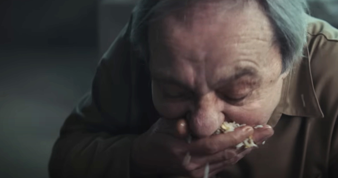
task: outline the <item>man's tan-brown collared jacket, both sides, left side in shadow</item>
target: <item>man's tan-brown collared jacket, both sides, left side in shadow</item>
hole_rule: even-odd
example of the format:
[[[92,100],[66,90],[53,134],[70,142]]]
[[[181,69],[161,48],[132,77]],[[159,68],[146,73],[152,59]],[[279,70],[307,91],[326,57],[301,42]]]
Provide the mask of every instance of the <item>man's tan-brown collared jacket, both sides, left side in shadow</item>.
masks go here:
[[[308,48],[284,80],[269,120],[275,134],[218,177],[338,178],[338,30],[309,20]],[[130,22],[100,61],[91,93],[62,127],[51,178],[129,177],[131,142],[158,118],[129,34]]]

